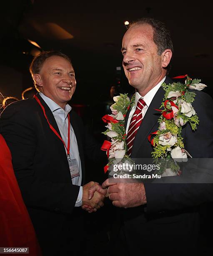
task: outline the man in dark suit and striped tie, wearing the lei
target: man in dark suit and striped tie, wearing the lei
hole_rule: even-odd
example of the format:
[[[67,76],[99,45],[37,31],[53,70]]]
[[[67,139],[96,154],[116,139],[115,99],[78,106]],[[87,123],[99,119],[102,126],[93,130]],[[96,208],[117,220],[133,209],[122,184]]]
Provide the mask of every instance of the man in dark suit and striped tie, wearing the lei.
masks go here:
[[[142,99],[143,116],[133,141],[128,144],[131,158],[151,158],[153,146],[148,135],[158,130],[156,109],[164,98],[161,84],[172,84],[166,76],[173,44],[170,33],[160,21],[145,18],[132,23],[123,37],[123,68],[129,84],[135,88],[135,107],[126,115],[126,133]],[[184,61],[184,60],[183,60]],[[213,100],[196,91],[193,107],[199,117],[195,132],[183,126],[185,149],[193,158],[213,158]],[[133,128],[134,130],[134,128]],[[132,131],[133,131],[132,130]],[[133,143],[131,143],[133,142]],[[120,228],[111,237],[112,253],[123,255],[194,255],[199,231],[199,207],[212,200],[212,184],[186,183],[112,183],[107,179],[109,198],[118,208]],[[101,188],[94,185],[90,191]],[[114,238],[114,241],[113,241]]]

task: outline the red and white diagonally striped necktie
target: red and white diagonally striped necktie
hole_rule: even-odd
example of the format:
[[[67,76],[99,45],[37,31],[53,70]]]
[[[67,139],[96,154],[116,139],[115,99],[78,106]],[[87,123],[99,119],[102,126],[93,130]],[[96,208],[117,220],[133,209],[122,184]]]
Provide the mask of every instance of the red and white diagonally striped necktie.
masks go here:
[[[126,139],[126,144],[127,144],[127,148],[128,148],[128,151],[127,151],[128,156],[131,155],[135,135],[138,131],[138,128],[140,127],[142,120],[143,120],[142,109],[143,109],[143,107],[145,107],[145,105],[146,105],[145,101],[142,98],[140,98],[138,100],[137,106],[135,108],[135,112],[130,120],[130,125],[128,128],[127,139]]]

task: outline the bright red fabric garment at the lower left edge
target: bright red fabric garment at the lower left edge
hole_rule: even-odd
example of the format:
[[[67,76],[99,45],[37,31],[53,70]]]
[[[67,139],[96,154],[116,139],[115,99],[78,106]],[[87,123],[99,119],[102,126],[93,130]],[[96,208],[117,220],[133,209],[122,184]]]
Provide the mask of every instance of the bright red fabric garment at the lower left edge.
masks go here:
[[[29,255],[42,255],[15,178],[10,150],[2,135],[0,135],[0,247],[29,247]]]

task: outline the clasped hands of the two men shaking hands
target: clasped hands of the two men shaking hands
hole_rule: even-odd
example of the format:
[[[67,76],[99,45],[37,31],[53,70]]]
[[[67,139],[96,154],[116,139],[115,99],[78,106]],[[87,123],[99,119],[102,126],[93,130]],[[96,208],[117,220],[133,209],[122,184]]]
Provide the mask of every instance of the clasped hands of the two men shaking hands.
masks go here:
[[[87,212],[96,212],[104,205],[108,197],[108,189],[103,189],[98,182],[89,182],[83,186],[82,209]]]

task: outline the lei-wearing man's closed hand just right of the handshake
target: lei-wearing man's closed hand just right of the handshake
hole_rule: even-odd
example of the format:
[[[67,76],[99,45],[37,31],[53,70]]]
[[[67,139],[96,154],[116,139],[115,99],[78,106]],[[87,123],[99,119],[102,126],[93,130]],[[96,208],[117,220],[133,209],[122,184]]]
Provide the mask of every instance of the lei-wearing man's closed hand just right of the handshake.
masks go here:
[[[143,183],[110,183],[106,179],[102,184],[108,187],[109,199],[116,207],[136,207],[146,204],[145,187]],[[91,191],[91,190],[90,190]]]

